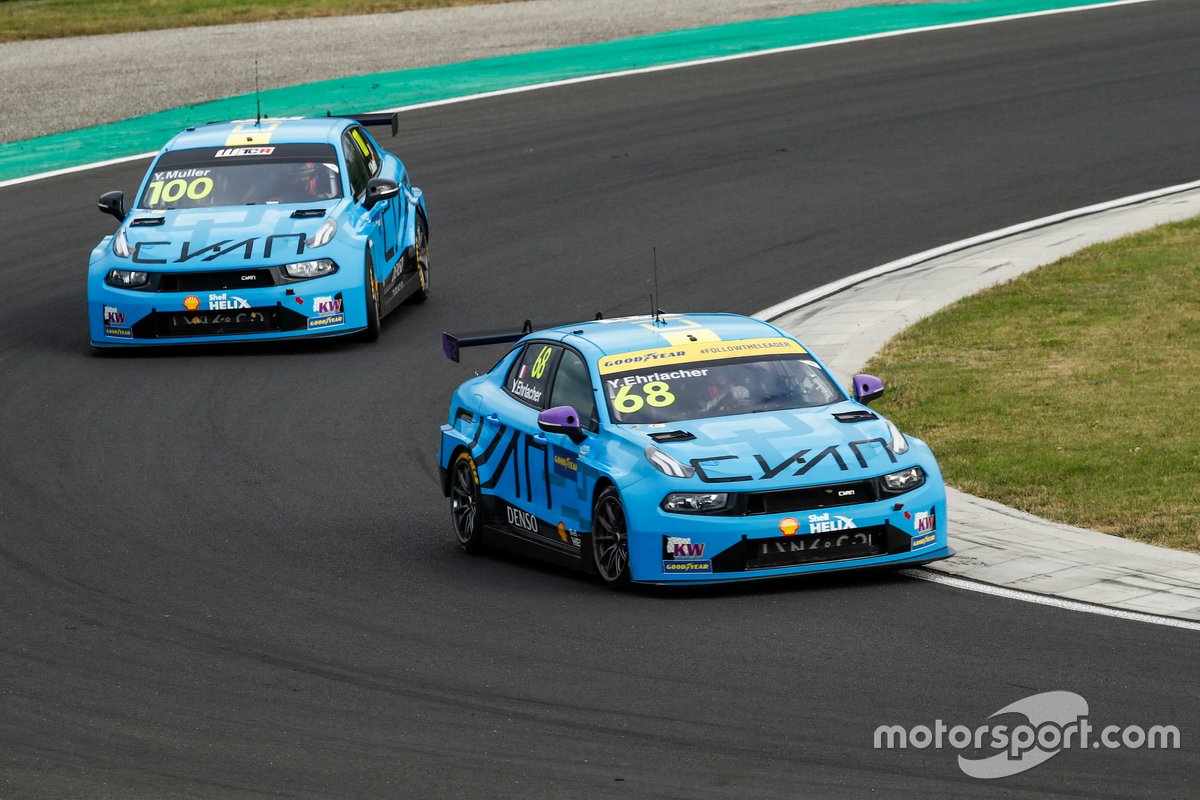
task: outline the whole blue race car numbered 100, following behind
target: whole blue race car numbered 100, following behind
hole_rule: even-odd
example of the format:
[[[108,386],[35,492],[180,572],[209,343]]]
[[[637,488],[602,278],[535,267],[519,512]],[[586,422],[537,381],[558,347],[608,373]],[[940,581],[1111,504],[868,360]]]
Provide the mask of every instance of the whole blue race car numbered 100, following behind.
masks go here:
[[[137,201],[91,253],[97,348],[379,336],[430,288],[428,221],[404,164],[364,125],[395,114],[187,128],[150,164]]]

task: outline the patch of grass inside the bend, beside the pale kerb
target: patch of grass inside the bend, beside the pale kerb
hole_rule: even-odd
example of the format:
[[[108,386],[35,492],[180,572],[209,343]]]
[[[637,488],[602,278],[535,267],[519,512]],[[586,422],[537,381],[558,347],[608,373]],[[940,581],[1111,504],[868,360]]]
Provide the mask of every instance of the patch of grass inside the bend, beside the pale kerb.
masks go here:
[[[1200,551],[1200,219],[962,300],[871,360],[965,492]]]

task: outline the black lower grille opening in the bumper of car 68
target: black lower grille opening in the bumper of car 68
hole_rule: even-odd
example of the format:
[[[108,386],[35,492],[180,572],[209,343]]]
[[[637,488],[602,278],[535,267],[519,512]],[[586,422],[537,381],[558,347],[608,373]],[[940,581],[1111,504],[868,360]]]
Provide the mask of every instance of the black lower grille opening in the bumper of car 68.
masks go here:
[[[713,559],[714,572],[774,570],[907,553],[912,537],[889,524],[773,539],[745,539]]]

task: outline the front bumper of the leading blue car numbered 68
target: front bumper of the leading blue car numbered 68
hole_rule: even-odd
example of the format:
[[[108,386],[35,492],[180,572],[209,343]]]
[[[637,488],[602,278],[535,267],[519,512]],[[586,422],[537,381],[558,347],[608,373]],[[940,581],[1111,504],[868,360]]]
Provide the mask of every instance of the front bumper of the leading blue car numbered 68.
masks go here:
[[[757,581],[926,564],[954,553],[940,481],[874,503],[752,516],[671,513],[646,500],[625,504],[638,583]]]

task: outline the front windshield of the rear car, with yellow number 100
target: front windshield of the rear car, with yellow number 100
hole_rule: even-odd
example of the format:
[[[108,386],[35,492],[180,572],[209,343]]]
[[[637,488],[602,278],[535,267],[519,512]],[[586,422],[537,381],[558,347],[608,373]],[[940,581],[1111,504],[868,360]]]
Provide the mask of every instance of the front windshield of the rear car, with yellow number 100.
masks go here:
[[[163,154],[139,209],[312,203],[342,196],[337,154],[329,144],[198,148]]]

